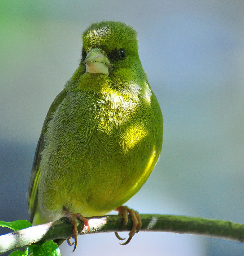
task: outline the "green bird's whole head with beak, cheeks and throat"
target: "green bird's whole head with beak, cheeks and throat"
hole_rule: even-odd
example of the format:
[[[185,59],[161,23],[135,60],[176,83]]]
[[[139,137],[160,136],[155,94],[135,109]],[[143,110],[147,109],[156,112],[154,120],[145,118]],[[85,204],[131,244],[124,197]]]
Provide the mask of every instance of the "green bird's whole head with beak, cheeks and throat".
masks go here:
[[[80,84],[86,78],[82,89],[97,90],[88,82],[92,78],[106,80],[114,89],[147,80],[138,55],[137,33],[131,26],[117,21],[93,23],[82,41],[80,66],[72,77]]]

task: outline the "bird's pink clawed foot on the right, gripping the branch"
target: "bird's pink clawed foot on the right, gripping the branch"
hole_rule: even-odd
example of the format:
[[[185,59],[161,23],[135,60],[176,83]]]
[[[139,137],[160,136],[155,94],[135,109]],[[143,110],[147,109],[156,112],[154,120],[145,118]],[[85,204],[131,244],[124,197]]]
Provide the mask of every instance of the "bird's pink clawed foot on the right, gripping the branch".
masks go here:
[[[126,242],[121,243],[121,245],[126,245],[130,242],[131,238],[135,235],[135,233],[138,233],[142,223],[141,223],[141,216],[138,213],[138,211],[135,211],[133,209],[130,209],[127,206],[120,206],[118,208],[115,209],[116,211],[118,211],[118,214],[123,215],[124,217],[124,222],[123,222],[123,228],[126,226],[126,224],[128,223],[128,214],[131,216],[132,222],[133,222],[133,227],[132,230],[129,232],[129,238],[126,240]],[[119,240],[125,240],[125,238],[121,238],[118,235],[118,232],[114,232],[115,236],[119,239]]]

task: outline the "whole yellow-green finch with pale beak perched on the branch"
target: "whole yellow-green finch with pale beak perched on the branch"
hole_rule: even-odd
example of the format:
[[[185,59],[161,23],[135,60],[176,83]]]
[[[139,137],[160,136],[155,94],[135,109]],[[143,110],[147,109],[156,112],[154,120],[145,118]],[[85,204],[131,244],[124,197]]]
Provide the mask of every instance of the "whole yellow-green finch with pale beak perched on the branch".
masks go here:
[[[50,106],[36,147],[28,189],[30,220],[38,225],[67,217],[76,247],[77,218],[88,232],[87,216],[117,210],[124,225],[128,214],[133,220],[126,244],[141,220],[123,204],[158,161],[163,116],[131,26],[94,23],[82,41],[80,65]]]

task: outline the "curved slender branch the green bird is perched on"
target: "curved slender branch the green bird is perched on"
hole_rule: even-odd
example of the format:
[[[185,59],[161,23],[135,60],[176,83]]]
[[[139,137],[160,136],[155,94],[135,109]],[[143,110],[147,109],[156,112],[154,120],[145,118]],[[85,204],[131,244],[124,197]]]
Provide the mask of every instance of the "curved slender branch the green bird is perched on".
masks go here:
[[[130,231],[132,220],[130,216],[128,217],[129,221],[124,229],[121,215],[87,217],[90,225],[89,233]],[[140,231],[196,234],[238,242],[244,241],[244,225],[230,221],[159,214],[141,214],[141,218]],[[82,221],[79,223],[83,224]],[[86,233],[82,224],[78,226],[79,235]],[[0,254],[50,239],[60,245],[65,239],[71,237],[72,233],[73,229],[66,218],[8,233],[0,236]]]

